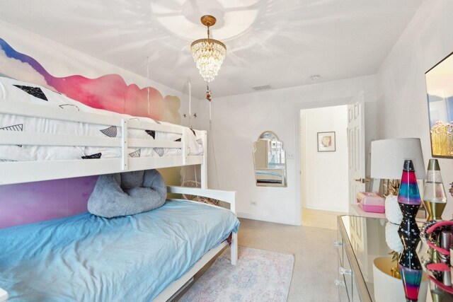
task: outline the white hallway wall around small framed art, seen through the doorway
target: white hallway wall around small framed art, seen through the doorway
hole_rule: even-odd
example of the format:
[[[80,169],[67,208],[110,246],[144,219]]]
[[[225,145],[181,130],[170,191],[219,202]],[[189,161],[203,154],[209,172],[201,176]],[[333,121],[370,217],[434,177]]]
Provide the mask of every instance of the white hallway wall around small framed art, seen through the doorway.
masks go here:
[[[304,207],[348,212],[348,105],[302,110],[302,121]],[[336,132],[335,152],[318,152],[318,132]]]

